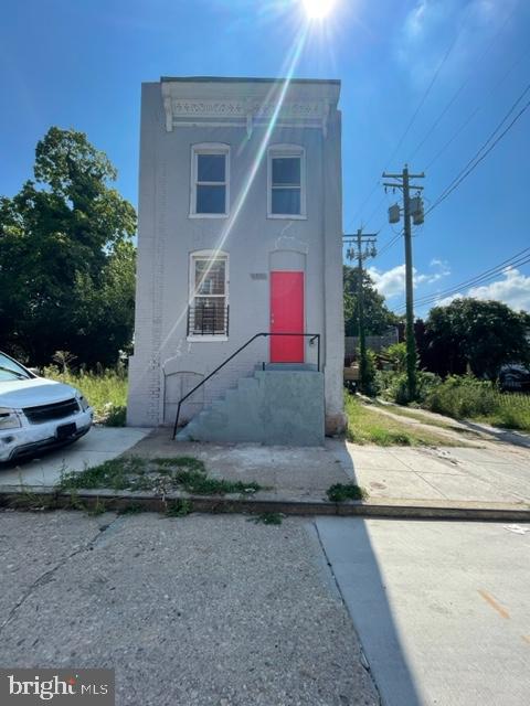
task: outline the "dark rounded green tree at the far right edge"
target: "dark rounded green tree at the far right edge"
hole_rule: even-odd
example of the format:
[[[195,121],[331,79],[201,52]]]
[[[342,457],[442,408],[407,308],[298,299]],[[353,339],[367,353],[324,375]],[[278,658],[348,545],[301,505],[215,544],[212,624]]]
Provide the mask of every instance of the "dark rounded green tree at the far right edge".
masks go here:
[[[497,379],[502,365],[530,362],[530,315],[500,301],[455,299],[425,322],[422,362],[439,375],[470,370]]]

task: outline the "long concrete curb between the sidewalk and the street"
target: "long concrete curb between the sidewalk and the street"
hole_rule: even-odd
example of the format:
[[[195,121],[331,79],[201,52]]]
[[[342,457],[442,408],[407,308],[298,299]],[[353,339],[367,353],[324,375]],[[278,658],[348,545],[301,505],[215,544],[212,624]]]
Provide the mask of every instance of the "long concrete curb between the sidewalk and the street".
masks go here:
[[[168,505],[179,501],[191,503],[192,512],[284,515],[337,515],[342,517],[385,517],[400,520],[459,520],[467,522],[530,522],[529,505],[502,505],[495,503],[445,503],[434,505],[416,501],[403,504],[389,500],[385,503],[347,501],[333,503],[317,499],[266,499],[241,495],[190,495],[170,493],[166,499],[149,493],[130,493],[113,490],[83,490],[74,494],[53,488],[31,485],[23,490],[4,485],[0,490],[0,507],[15,510],[91,510],[102,503],[105,510],[126,511],[131,506],[146,512],[165,512]]]

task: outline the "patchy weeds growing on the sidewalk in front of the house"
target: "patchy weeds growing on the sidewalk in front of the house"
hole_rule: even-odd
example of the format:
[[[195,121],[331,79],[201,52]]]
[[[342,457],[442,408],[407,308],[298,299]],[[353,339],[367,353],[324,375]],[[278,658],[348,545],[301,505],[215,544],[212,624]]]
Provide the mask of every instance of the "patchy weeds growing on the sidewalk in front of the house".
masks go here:
[[[62,473],[61,490],[107,488],[110,490],[151,491],[165,496],[174,490],[194,495],[251,494],[262,490],[255,481],[231,481],[211,478],[204,463],[181,456],[167,459],[145,459],[126,456],[87,468],[80,473]]]

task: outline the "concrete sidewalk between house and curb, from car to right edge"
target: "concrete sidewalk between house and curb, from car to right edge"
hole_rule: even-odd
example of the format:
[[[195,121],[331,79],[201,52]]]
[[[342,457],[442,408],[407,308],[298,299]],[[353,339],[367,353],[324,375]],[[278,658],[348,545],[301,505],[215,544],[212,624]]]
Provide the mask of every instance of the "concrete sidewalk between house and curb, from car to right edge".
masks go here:
[[[506,512],[522,520],[524,512],[530,518],[530,449],[490,441],[484,441],[480,448],[385,448],[339,439],[327,439],[325,447],[317,448],[266,447],[176,443],[167,428],[150,432],[94,429],[86,442],[82,440],[20,468],[1,469],[0,492],[2,488],[4,493],[15,492],[21,484],[51,492],[61,470],[82,471],[121,452],[144,458],[191,456],[202,460],[213,478],[257,481],[266,488],[252,498],[197,499],[197,507],[202,510],[221,509],[224,503],[240,512],[277,509],[295,514],[379,513],[416,517],[475,513],[475,518],[499,520],[509,518]],[[340,507],[328,501],[326,491],[330,485],[352,482],[368,492],[367,501]],[[130,494],[123,491],[116,496],[123,500]],[[138,493],[134,496],[139,499]],[[141,499],[148,502],[149,498],[152,499],[152,493]],[[148,506],[156,509],[152,503]],[[485,516],[485,511],[497,514]]]

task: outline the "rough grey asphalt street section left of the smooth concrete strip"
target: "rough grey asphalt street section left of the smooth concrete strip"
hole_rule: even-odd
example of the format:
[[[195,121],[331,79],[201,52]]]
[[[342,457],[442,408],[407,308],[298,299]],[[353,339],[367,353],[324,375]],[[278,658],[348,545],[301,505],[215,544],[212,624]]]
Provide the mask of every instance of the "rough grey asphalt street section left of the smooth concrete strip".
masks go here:
[[[311,523],[0,512],[0,665],[116,670],[117,706],[375,706]]]

